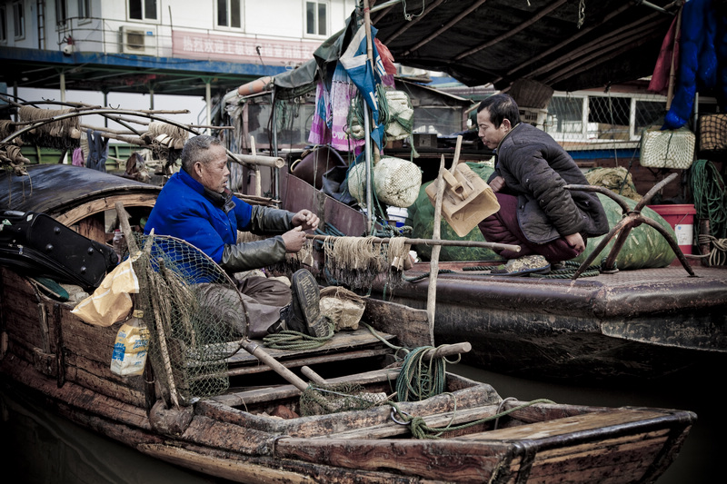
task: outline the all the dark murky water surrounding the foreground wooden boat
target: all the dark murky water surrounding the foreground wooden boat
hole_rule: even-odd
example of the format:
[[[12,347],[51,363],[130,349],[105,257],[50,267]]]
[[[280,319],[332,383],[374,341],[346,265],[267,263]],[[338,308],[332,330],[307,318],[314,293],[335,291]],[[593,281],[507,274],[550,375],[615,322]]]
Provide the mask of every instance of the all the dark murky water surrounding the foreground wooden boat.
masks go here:
[[[727,419],[721,399],[724,369],[713,375],[685,375],[624,388],[605,385],[568,385],[503,376],[464,365],[448,370],[490,383],[500,396],[520,400],[547,398],[559,403],[604,406],[648,406],[692,410],[699,420],[682,452],[657,484],[724,482],[724,436]],[[703,378],[702,378],[703,377]],[[710,377],[710,378],[706,378]],[[709,384],[702,383],[710,381]],[[0,386],[0,435],[5,450],[0,469],[14,482],[220,484],[164,462],[148,458],[124,445],[99,437],[41,409],[15,390]],[[8,480],[3,479],[5,482]]]

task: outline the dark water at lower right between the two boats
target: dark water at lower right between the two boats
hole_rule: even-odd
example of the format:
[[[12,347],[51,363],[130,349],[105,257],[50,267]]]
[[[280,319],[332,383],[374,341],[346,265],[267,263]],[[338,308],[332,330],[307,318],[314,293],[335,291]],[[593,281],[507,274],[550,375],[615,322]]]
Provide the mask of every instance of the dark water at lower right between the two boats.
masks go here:
[[[724,482],[722,466],[725,446],[723,436],[727,430],[727,416],[722,410],[724,386],[722,370],[715,375],[686,374],[638,385],[567,385],[525,380],[499,373],[474,369],[466,365],[449,365],[447,370],[467,378],[491,384],[501,397],[520,400],[550,399],[558,403],[601,405],[604,407],[656,407],[662,409],[691,410],[697,422],[689,432],[677,459],[657,484],[702,484]],[[708,381],[708,382],[705,382]]]

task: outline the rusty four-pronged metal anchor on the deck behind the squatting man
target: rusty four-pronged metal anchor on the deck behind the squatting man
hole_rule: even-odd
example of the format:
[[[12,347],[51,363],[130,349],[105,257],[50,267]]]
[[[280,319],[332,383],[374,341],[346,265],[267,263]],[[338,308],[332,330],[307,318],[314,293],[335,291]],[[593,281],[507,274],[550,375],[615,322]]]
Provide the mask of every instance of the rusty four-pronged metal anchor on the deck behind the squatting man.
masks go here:
[[[631,232],[632,228],[638,227],[642,223],[646,223],[647,225],[650,225],[651,227],[656,230],[656,232],[659,232],[662,234],[662,237],[666,239],[666,242],[669,242],[670,247],[672,247],[672,251],[676,254],[677,258],[679,259],[679,262],[682,262],[682,267],[686,272],[689,272],[689,275],[692,277],[696,277],[694,274],[694,271],[692,270],[692,266],[687,262],[687,258],[684,256],[684,253],[682,252],[682,249],[679,248],[679,244],[674,240],[674,237],[670,232],[668,232],[666,229],[662,227],[662,224],[659,222],[656,222],[655,220],[646,217],[642,215],[642,209],[643,207],[652,200],[652,196],[659,192],[662,187],[668,183],[671,183],[676,177],[678,176],[678,173],[672,173],[666,178],[664,178],[661,182],[656,183],[651,190],[649,190],[648,193],[643,195],[640,202],[636,203],[636,206],[632,209],[629,208],[629,205],[626,203],[626,199],[622,197],[621,195],[617,193],[613,193],[611,190],[604,188],[602,186],[593,186],[593,185],[565,185],[565,188],[568,190],[583,190],[584,192],[597,192],[597,193],[603,193],[607,197],[611,198],[614,202],[617,202],[623,211],[623,218],[620,222],[618,222],[612,229],[609,231],[604,237],[603,240],[598,244],[598,247],[596,247],[593,252],[586,258],[585,261],[581,264],[581,266],[578,268],[578,270],[573,274],[573,280],[578,279],[578,276],[580,276],[583,271],[587,267],[589,267],[593,260],[600,254],[603,249],[605,249],[606,245],[608,245],[609,242],[613,239],[613,237],[616,237],[616,242],[613,244],[613,247],[611,248],[611,252],[609,252],[608,256],[606,257],[606,261],[603,263],[603,269],[604,272],[612,271],[614,272],[616,270],[615,263],[616,263],[616,257],[618,256],[619,252],[621,252],[623,248],[623,244],[626,242],[626,238],[629,236],[629,232]]]

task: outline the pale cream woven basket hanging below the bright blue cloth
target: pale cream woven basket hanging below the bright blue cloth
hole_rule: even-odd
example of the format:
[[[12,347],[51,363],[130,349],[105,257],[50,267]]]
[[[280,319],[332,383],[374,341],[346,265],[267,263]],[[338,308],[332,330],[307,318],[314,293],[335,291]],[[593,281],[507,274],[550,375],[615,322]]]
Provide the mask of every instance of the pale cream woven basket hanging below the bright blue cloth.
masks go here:
[[[688,128],[649,128],[642,134],[642,166],[685,170],[692,166],[696,136]]]

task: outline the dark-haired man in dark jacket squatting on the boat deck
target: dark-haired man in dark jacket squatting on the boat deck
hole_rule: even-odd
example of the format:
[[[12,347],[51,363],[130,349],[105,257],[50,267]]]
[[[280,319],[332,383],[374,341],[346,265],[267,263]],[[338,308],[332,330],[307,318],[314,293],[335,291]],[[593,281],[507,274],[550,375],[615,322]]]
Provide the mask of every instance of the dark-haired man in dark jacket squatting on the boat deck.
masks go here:
[[[495,153],[488,183],[500,203],[499,212],[480,222],[480,231],[488,242],[521,246],[521,252],[500,252],[511,261],[493,273],[547,272],[551,262],[582,253],[588,237],[608,232],[594,193],[563,188],[588,184],[578,165],[550,134],[520,122],[512,97],[484,99],[477,125],[483,143]]]

